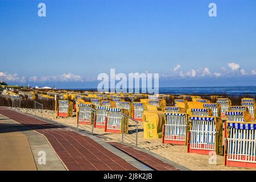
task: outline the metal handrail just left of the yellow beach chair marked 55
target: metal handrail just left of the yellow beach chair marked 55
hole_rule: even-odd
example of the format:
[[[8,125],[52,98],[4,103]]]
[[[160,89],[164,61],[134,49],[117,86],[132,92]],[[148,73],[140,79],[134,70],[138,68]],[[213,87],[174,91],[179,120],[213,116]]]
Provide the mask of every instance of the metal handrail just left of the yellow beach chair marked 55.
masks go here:
[[[138,145],[138,125],[139,122],[129,117],[126,114],[123,114],[123,126],[122,126],[122,142],[126,142],[129,144]],[[126,125],[126,122],[129,125]],[[127,131],[127,132],[125,132]]]

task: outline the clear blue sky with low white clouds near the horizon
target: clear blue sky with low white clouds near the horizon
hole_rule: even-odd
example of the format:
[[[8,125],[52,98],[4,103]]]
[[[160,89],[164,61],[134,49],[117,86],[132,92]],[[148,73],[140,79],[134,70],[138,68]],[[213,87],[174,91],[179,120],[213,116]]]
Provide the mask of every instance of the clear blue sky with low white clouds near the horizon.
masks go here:
[[[255,22],[254,0],[1,0],[0,80],[96,88],[115,68],[160,87],[256,85]]]

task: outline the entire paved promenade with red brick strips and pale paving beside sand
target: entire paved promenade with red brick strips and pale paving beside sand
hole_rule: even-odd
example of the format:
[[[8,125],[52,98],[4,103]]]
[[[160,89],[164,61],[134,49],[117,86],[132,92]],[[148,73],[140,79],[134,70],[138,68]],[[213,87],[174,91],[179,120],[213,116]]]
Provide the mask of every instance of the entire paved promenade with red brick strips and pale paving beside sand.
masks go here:
[[[31,161],[31,163],[28,165],[30,168],[27,167],[23,169],[51,170],[53,167],[55,170],[67,169],[86,171],[178,170],[176,167],[164,163],[143,151],[137,151],[132,147],[125,147],[119,143],[111,143],[110,145],[99,139],[92,139],[77,133],[73,129],[63,125],[42,121],[41,119],[18,113],[14,110],[5,109],[3,107],[0,108],[0,117],[1,114],[2,118],[9,119],[10,122],[19,123],[19,127],[16,126],[18,129],[16,128],[15,130],[12,130],[12,132],[15,131],[16,135],[23,135],[23,140],[26,140],[26,137],[28,138],[23,142],[25,143],[25,145],[23,145],[23,150],[27,151],[26,157],[28,158],[27,160]],[[3,117],[3,115],[5,117]],[[7,138],[12,136],[12,132],[8,132],[8,129],[10,130],[10,126],[6,127],[5,132],[3,132],[7,135]],[[35,133],[38,135],[35,135]],[[15,135],[13,136],[14,137],[12,138],[16,138]],[[42,137],[45,139],[45,142]],[[20,137],[20,139],[22,139],[22,137]],[[3,140],[7,141],[7,139]],[[36,145],[38,140],[41,141],[41,144]],[[14,144],[13,147],[6,145],[5,148],[8,148],[6,150],[19,151],[17,147],[18,145]],[[37,152],[40,149],[42,150],[42,147],[44,147],[43,151],[46,151],[47,158],[51,158],[51,160],[49,160],[48,167],[38,165],[36,161],[37,159],[34,159],[35,161],[33,161],[33,155],[31,154],[30,147],[34,154],[34,158]],[[9,153],[8,151],[2,152],[6,155],[15,155],[15,153]],[[20,159],[20,161],[23,160]],[[5,161],[5,163],[8,162],[9,160]]]

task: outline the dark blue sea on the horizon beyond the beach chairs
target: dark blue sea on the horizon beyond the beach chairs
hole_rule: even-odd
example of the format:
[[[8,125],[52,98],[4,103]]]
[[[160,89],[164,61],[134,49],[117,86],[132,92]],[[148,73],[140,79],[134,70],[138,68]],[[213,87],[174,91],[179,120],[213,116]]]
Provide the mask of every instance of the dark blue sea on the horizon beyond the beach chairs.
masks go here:
[[[68,89],[68,90],[96,91],[97,89]],[[166,88],[159,88],[159,93],[174,94],[174,95],[187,94],[187,95],[256,96],[256,86],[166,87]]]

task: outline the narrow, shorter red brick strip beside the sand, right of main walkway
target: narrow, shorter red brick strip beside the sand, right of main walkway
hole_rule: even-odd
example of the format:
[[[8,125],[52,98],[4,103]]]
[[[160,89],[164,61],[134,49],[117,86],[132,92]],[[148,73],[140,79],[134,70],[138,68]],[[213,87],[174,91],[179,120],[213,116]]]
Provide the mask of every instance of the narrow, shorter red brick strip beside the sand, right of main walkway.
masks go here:
[[[108,143],[118,148],[119,150],[122,150],[123,152],[132,156],[133,158],[139,160],[139,162],[146,164],[152,169],[155,169],[156,171],[179,171],[179,169],[177,169],[176,167],[171,166],[170,164],[164,163],[162,160],[159,160],[154,156],[147,154],[146,152],[136,150],[133,147],[126,146],[125,144],[122,144],[122,143],[117,143],[117,142],[108,142]]]

